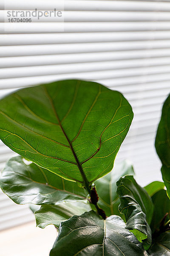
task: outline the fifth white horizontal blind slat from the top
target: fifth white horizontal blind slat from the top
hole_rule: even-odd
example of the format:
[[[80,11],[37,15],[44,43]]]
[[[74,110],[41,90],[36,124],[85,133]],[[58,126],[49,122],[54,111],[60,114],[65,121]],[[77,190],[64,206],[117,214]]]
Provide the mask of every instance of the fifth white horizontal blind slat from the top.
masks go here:
[[[88,39],[89,40],[89,39]],[[91,39],[92,40],[92,39]],[[0,57],[170,48],[170,40],[1,46]]]

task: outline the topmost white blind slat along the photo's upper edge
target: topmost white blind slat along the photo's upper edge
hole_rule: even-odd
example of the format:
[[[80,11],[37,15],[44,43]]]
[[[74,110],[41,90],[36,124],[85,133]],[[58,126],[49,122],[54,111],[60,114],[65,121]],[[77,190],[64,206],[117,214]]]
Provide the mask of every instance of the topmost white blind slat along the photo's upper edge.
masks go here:
[[[170,10],[169,0],[167,1],[158,1],[158,0],[144,0],[144,1],[136,1],[136,0],[128,0],[128,1],[108,1],[108,0],[65,0],[64,9],[65,10],[85,10],[85,11],[113,11],[113,10],[121,10],[121,11],[167,11]],[[42,10],[50,10],[53,9],[54,6],[56,9],[62,9],[63,1],[61,0],[29,0],[29,2],[24,2],[22,0],[8,0],[6,1],[6,9],[35,9],[35,5],[37,9]],[[0,9],[3,9],[3,3],[0,3]]]

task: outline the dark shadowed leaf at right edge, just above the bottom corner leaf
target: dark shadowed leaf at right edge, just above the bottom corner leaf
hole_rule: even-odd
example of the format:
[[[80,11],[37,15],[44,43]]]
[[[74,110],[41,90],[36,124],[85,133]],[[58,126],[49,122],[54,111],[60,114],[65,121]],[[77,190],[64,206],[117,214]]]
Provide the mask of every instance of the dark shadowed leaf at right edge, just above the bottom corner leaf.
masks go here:
[[[170,199],[167,197],[166,191],[162,189],[152,196],[152,201],[154,204],[154,212],[150,227],[152,232],[154,232],[155,230],[159,229],[161,220],[164,215],[167,212],[170,213]],[[169,215],[167,216],[167,220],[168,217]]]

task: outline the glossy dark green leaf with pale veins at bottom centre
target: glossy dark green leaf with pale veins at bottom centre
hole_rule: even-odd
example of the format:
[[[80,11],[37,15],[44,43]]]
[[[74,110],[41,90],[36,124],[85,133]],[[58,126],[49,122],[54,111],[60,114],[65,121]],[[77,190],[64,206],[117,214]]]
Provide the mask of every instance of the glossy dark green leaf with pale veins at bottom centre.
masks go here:
[[[115,218],[115,222],[114,216],[104,221],[91,211],[62,222],[50,256],[147,255],[133,233],[117,220],[120,217]]]

